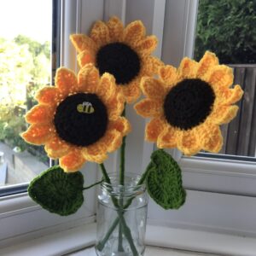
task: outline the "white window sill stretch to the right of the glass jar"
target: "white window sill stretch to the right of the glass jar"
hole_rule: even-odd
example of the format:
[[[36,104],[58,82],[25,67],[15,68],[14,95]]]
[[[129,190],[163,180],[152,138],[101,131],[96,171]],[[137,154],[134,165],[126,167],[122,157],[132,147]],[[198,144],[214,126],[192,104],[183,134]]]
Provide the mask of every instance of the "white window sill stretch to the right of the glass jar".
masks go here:
[[[201,230],[148,225],[146,243],[191,252],[233,256],[255,256],[256,237],[232,236]]]

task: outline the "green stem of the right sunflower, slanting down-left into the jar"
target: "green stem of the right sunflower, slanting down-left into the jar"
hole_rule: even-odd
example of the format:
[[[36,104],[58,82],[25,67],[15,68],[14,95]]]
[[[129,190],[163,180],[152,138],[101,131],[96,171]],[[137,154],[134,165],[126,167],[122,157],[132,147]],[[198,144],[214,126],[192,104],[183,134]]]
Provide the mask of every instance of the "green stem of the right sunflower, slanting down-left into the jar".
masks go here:
[[[148,171],[150,170],[151,168],[151,163],[149,163],[149,165],[147,166],[147,169],[146,171],[143,173],[143,176],[140,178],[140,180],[138,181],[137,183],[137,186],[139,185],[142,185],[148,175]],[[129,199],[129,201],[126,202],[125,206],[124,206],[124,209],[130,207],[131,205],[131,202],[133,201],[135,197],[131,197],[131,199]],[[123,216],[123,215],[122,215]],[[120,221],[120,218],[117,217],[115,218],[115,220],[113,221],[113,224],[111,225],[111,227],[109,228],[106,236],[102,239],[102,242],[100,242],[98,245],[97,245],[97,249],[99,251],[102,251],[103,247],[105,246],[106,242],[108,241],[108,238],[109,236],[113,233],[113,230],[116,228],[116,226],[119,224],[119,221]]]

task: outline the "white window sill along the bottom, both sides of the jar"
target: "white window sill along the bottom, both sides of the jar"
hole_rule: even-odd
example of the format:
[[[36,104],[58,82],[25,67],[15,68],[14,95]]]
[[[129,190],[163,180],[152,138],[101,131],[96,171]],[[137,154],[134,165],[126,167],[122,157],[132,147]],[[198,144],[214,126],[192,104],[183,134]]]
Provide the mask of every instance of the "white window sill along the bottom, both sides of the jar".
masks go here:
[[[94,244],[96,224],[56,232],[49,236],[0,249],[4,256],[55,256],[73,253]],[[256,238],[231,236],[198,230],[182,230],[154,225],[147,226],[146,244],[192,252],[232,256],[255,256]]]

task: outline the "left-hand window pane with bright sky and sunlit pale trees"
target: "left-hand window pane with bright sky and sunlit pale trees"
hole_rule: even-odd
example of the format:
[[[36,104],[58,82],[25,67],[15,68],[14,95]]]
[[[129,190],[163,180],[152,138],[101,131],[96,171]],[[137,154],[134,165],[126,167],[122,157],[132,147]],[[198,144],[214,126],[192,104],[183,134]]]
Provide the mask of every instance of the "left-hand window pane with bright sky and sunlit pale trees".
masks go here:
[[[20,132],[35,92],[51,84],[51,0],[0,3],[0,189],[27,183],[49,166],[44,148]]]

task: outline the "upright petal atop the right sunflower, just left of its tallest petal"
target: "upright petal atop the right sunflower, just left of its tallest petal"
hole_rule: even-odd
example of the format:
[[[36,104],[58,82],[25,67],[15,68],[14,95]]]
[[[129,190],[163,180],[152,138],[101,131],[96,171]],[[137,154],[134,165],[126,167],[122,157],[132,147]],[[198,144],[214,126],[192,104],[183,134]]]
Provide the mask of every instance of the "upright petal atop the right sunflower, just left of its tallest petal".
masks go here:
[[[198,63],[187,57],[181,61],[177,73],[181,79],[195,79]]]

